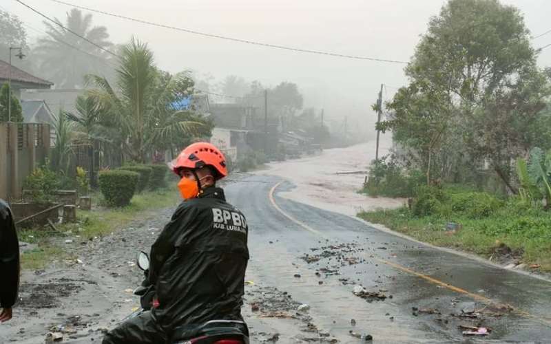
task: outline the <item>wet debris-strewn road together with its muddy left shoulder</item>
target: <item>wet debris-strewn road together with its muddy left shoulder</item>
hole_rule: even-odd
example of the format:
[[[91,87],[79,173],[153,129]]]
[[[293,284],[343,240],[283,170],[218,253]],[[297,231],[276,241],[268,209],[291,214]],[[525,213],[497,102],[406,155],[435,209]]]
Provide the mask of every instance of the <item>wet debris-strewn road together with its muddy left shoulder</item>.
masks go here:
[[[277,176],[248,175],[225,189],[250,228],[243,314],[252,343],[551,341],[548,281],[280,197],[295,186]],[[136,253],[173,210],[101,239],[74,238],[64,244],[74,261],[25,272],[0,343],[43,343],[48,332],[62,343],[101,342],[138,306]]]

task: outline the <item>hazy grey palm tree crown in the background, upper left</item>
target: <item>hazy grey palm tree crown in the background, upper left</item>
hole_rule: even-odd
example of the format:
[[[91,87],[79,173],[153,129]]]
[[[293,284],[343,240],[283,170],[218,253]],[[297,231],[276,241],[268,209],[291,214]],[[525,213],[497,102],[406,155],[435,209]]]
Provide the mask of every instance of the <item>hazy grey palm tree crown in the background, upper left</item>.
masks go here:
[[[61,23],[59,19],[55,20]],[[57,25],[46,21],[44,25],[48,36],[39,39],[36,48],[40,61],[39,69],[43,71],[44,77],[53,80],[57,87],[81,87],[83,77],[92,72],[110,74],[110,54]],[[65,27],[101,47],[112,46],[112,43],[107,41],[109,34],[105,26],[92,27],[92,14],[83,16],[80,10],[73,8],[67,13]]]

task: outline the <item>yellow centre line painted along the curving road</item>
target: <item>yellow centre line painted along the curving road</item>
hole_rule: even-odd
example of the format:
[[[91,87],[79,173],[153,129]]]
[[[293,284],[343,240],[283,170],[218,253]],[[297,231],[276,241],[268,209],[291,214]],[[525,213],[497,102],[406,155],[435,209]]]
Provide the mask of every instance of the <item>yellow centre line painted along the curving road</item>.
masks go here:
[[[314,228],[311,228],[310,226],[300,222],[298,219],[295,219],[294,217],[292,217],[291,215],[285,213],[282,208],[280,208],[280,206],[278,206],[277,203],[275,203],[275,199],[273,197],[273,193],[275,192],[275,189],[278,188],[278,186],[280,186],[282,184],[282,182],[278,182],[278,184],[275,184],[270,192],[269,192],[269,199],[270,199],[270,202],[271,204],[273,205],[274,208],[276,208],[284,217],[287,217],[289,220],[291,220],[291,222],[294,222],[295,224],[297,224],[298,226],[308,230],[309,232],[311,233],[314,233],[316,235],[320,235],[321,237],[323,237],[324,239],[329,239],[329,237],[327,237],[326,235],[324,235],[323,233],[321,233],[319,230],[315,230]],[[422,278],[426,281],[429,281],[430,283],[433,283],[433,284],[436,284],[437,286],[441,286],[443,288],[446,288],[448,290],[452,290],[454,292],[457,292],[459,294],[464,294],[464,295],[467,295],[468,297],[471,297],[472,299],[475,299],[475,300],[478,300],[478,301],[484,301],[485,303],[487,303],[488,305],[501,305],[501,303],[498,303],[496,301],[493,301],[492,299],[488,299],[487,297],[484,297],[482,295],[479,295],[479,294],[475,294],[473,292],[469,292],[468,290],[464,290],[464,289],[461,289],[459,287],[456,287],[456,286],[452,286],[451,284],[449,283],[446,283],[446,282],[443,282],[443,281],[440,281],[439,279],[435,279],[433,277],[430,277],[430,276],[427,276],[427,275],[424,275],[420,272],[416,272],[414,270],[411,270],[409,268],[406,268],[405,266],[401,266],[399,264],[396,264],[396,263],[393,263],[392,261],[387,261],[387,260],[384,260],[384,259],[380,259],[380,258],[377,258],[375,257],[374,258],[375,260],[379,261],[380,263],[382,264],[386,264],[388,266],[391,266],[392,268],[395,268],[396,270],[400,270],[400,271],[403,271],[403,272],[406,272],[410,275],[413,275],[413,276],[417,276],[419,278]],[[524,312],[523,310],[519,310],[519,309],[514,309],[514,312],[516,314],[519,314],[519,315],[522,315],[522,316],[526,316],[528,318],[532,318],[536,321],[539,321],[540,323],[543,323],[544,325],[551,325],[551,321],[547,320],[547,319],[542,319],[538,316],[534,316],[528,312]]]

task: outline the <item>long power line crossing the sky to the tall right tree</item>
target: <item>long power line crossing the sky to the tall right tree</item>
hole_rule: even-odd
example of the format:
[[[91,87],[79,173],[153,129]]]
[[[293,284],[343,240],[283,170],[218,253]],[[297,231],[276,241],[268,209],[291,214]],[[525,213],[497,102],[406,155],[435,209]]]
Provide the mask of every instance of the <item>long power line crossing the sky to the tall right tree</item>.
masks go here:
[[[19,0],[16,0],[16,1],[19,1]],[[145,21],[143,19],[125,17],[121,14],[114,14],[114,13],[105,12],[105,11],[102,11],[102,10],[95,10],[94,8],[87,8],[85,6],[78,6],[78,5],[75,5],[73,3],[67,3],[65,1],[60,1],[60,0],[50,0],[50,1],[53,1],[55,3],[61,3],[61,4],[66,5],[66,6],[72,6],[72,7],[75,7],[75,8],[80,8],[81,10],[87,10],[87,11],[90,11],[90,12],[105,14],[105,15],[111,16],[111,17],[116,17],[116,18],[120,18],[120,19],[126,19],[126,20],[129,20],[129,21],[134,21],[136,23],[154,25],[154,26],[157,26],[159,28],[177,30],[177,31],[187,32],[189,34],[198,34],[200,36],[207,36],[207,37],[211,37],[211,38],[215,38],[215,39],[225,39],[227,41],[247,43],[247,44],[251,44],[251,45],[260,45],[260,46],[263,46],[263,47],[272,47],[272,48],[281,49],[281,50],[291,50],[291,51],[294,51],[294,52],[305,52],[305,53],[309,53],[309,54],[318,54],[318,55],[326,55],[326,56],[334,56],[334,57],[342,57],[342,58],[353,58],[353,59],[357,59],[357,60],[368,60],[368,61],[387,62],[387,63],[400,63],[400,64],[404,64],[404,65],[408,64],[405,61],[388,60],[386,58],[374,58],[374,57],[367,57],[367,56],[337,54],[337,53],[334,53],[334,52],[323,52],[323,51],[320,51],[320,50],[301,49],[301,48],[297,48],[297,47],[288,47],[288,46],[285,46],[285,45],[276,45],[276,44],[271,44],[271,43],[250,41],[248,39],[238,39],[238,38],[230,37],[230,36],[222,36],[220,34],[209,34],[209,33],[206,33],[206,32],[200,32],[200,31],[196,31],[196,30],[189,30],[189,29],[185,29],[185,28],[177,28],[175,26],[170,26],[170,25],[165,25],[165,24],[160,24],[160,23],[154,23],[152,21]],[[19,2],[21,2],[21,1],[19,1]]]

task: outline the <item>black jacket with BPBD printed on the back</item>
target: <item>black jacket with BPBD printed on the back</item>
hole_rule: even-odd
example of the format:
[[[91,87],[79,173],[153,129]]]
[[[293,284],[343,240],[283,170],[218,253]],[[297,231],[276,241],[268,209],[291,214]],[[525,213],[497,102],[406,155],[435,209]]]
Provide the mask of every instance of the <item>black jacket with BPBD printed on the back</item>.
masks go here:
[[[151,249],[155,321],[170,331],[212,319],[242,319],[249,259],[247,220],[210,187],[182,202]]]

